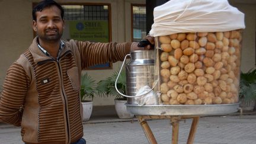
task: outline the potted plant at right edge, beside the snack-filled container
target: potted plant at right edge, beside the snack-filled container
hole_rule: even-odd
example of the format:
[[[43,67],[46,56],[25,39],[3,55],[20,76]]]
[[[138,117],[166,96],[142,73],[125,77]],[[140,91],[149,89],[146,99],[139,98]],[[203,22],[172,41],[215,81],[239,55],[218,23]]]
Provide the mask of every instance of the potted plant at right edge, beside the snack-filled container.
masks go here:
[[[253,111],[256,100],[256,69],[250,69],[248,72],[241,72],[240,107],[244,111]]]

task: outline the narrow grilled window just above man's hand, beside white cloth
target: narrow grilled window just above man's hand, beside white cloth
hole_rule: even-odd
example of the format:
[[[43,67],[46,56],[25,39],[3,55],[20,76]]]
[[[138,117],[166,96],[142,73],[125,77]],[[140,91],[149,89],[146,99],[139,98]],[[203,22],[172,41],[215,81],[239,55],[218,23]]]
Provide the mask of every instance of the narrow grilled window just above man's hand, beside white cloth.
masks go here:
[[[146,37],[146,7],[133,6],[133,41]]]

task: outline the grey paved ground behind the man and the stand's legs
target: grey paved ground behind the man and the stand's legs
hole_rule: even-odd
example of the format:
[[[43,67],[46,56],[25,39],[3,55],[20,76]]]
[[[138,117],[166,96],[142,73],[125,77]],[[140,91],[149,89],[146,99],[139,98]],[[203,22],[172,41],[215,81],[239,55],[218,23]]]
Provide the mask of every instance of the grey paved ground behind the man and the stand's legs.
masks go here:
[[[104,116],[104,115],[102,115]],[[101,119],[101,121],[100,121]],[[179,144],[186,143],[191,119],[180,121]],[[171,143],[172,127],[169,120],[148,120],[159,144]],[[84,138],[88,144],[132,143],[146,144],[140,124],[136,119],[120,120],[116,116],[92,117],[84,123]],[[20,128],[0,124],[0,143],[23,143]],[[255,144],[256,114],[243,116],[201,117],[194,144]]]

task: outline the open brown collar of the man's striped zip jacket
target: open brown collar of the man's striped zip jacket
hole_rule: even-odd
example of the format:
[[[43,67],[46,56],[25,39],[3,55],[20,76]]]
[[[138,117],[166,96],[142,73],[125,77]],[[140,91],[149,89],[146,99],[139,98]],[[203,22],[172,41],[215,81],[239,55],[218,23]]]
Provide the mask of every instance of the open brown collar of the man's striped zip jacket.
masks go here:
[[[39,48],[39,46],[37,45],[37,39],[38,37],[35,37],[33,42],[31,43],[29,50],[33,56],[34,62],[38,63],[38,62],[42,62],[44,60],[52,60],[51,57],[46,56]],[[60,57],[66,53],[67,51],[71,50],[70,47],[68,47],[68,44],[65,43],[65,46],[62,49],[62,52],[60,53]]]

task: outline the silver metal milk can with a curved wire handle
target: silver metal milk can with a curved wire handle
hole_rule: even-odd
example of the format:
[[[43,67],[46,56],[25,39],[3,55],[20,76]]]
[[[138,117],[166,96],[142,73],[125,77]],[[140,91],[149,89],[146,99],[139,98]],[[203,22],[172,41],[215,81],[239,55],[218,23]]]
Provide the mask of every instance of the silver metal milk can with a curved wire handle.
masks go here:
[[[152,88],[154,81],[154,50],[135,50],[124,57],[123,65],[121,66],[120,72],[123,69],[124,63],[126,63],[127,56],[130,56],[130,62],[126,64],[126,94],[121,94],[116,87],[117,92],[127,97],[127,104],[137,104],[135,97],[141,97],[142,95],[136,95],[137,91],[148,85]],[[120,75],[119,72],[119,75]],[[119,75],[116,79],[119,78]],[[153,88],[152,88],[153,89]],[[151,90],[152,90],[151,89]]]

